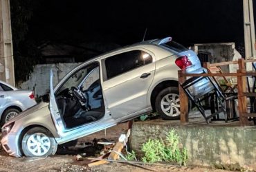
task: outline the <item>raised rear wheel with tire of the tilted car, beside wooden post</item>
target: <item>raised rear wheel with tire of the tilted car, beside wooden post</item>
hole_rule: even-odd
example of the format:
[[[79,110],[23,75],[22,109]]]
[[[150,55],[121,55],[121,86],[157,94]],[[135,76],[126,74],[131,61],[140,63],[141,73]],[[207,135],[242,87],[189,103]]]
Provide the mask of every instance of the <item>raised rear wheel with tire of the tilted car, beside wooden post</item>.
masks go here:
[[[181,114],[179,103],[179,88],[167,87],[156,96],[156,111],[163,120],[179,119]],[[190,101],[188,104],[190,110]]]

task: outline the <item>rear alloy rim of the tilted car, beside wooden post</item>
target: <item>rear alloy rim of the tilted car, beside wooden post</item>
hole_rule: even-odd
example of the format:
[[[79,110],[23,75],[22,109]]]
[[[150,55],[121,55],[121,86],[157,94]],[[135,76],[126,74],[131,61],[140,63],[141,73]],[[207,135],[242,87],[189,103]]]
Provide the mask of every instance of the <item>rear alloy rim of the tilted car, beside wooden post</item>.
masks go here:
[[[176,117],[181,114],[178,94],[167,94],[161,100],[161,109],[165,115]]]

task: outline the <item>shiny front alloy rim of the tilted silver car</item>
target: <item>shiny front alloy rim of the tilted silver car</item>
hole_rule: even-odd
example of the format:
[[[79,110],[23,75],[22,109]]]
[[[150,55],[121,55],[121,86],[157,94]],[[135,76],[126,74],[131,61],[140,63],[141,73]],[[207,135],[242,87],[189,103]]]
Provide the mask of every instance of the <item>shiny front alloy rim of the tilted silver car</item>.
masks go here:
[[[28,138],[27,147],[33,155],[42,156],[51,149],[51,141],[44,133],[33,133]]]

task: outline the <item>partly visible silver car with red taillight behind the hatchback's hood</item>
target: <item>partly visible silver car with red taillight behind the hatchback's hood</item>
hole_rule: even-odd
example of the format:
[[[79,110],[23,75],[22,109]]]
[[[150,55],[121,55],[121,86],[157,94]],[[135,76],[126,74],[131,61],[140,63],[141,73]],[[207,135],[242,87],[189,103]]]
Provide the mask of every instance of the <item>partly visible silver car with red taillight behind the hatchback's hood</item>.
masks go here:
[[[21,111],[36,105],[32,91],[20,90],[0,80],[0,125],[14,118]]]

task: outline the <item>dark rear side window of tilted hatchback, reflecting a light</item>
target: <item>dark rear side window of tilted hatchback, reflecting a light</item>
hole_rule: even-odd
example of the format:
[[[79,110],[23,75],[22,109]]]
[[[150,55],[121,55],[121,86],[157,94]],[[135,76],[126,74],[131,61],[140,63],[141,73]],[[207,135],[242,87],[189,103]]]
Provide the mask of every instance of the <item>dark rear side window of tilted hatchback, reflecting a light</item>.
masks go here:
[[[113,78],[149,63],[152,63],[152,56],[140,50],[110,56],[105,60],[107,78]]]

